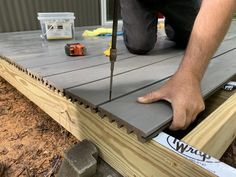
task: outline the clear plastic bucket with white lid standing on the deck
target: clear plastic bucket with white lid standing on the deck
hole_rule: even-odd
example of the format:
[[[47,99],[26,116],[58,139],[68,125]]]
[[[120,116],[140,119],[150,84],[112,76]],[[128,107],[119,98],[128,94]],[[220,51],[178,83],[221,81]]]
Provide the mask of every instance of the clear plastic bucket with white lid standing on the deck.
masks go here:
[[[73,39],[75,34],[73,12],[38,13],[43,39]]]

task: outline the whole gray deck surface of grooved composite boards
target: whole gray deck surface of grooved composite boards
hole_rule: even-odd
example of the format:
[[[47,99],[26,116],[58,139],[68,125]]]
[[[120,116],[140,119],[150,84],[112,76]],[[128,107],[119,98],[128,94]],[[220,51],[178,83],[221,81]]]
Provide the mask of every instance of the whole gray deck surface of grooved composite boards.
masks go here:
[[[137,97],[160,88],[177,70],[184,51],[174,43],[159,37],[153,51],[138,56],[127,51],[122,37],[118,38],[118,59],[115,63],[112,101],[109,101],[109,58],[103,55],[109,37],[82,38],[76,42],[88,50],[84,57],[68,57],[66,43],[43,42],[39,31],[0,34],[0,58],[27,72],[42,84],[64,93],[72,100],[99,111],[135,132],[142,141],[155,136],[172,120],[172,109],[166,102],[149,105],[137,103]],[[215,53],[202,80],[204,98],[214,93],[236,71],[236,22]],[[174,89],[174,88],[173,88]]]

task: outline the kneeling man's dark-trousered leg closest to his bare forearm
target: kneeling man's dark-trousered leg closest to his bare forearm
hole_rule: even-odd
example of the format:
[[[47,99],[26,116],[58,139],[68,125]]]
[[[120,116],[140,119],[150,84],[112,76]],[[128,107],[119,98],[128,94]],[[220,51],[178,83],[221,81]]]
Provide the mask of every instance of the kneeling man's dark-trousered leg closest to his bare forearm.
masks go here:
[[[201,0],[181,0],[170,1],[162,9],[166,17],[166,34],[170,40],[176,42],[177,47],[185,48],[188,45],[200,6]]]

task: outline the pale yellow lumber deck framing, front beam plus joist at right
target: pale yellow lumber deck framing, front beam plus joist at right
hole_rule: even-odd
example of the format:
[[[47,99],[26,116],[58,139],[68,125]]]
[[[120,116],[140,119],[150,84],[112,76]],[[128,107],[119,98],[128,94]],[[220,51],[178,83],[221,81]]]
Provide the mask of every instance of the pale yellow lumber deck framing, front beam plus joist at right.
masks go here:
[[[72,102],[61,93],[45,86],[41,80],[32,78],[26,71],[16,68],[3,59],[0,59],[0,76],[76,138],[88,139],[96,144],[100,156],[123,176],[213,176],[154,141],[144,144],[139,142],[136,135],[127,134],[126,129],[118,128],[116,122],[111,123],[107,117],[101,119],[97,113]],[[235,98],[236,94],[183,140],[219,158],[235,138],[236,129],[233,126],[236,124]],[[227,133],[222,135],[222,132]],[[211,146],[213,147],[210,148]]]

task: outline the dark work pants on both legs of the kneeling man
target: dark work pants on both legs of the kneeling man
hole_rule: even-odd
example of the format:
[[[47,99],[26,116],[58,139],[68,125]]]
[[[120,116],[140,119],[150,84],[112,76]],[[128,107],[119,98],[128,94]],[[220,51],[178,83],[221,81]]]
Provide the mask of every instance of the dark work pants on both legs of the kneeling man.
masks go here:
[[[200,0],[120,0],[124,42],[135,54],[153,49],[157,40],[157,12],[165,20],[165,31],[178,47],[187,46]]]

